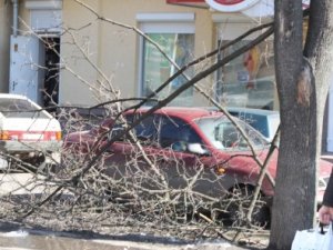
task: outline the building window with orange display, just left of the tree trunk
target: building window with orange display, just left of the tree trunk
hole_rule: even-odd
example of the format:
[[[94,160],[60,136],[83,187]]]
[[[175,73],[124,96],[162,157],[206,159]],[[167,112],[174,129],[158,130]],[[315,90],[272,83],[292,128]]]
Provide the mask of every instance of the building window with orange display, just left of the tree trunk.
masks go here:
[[[218,46],[226,44],[250,28],[244,23],[228,24]],[[252,38],[249,39],[221,51],[219,60],[248,44]],[[216,99],[229,107],[272,110],[278,102],[273,54],[273,40],[268,39],[218,70]]]

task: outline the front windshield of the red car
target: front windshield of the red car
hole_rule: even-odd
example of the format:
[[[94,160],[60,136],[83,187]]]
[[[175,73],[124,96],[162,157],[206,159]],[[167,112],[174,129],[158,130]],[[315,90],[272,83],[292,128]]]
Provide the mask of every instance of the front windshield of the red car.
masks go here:
[[[235,126],[225,117],[210,117],[195,120],[205,137],[216,149],[249,150],[249,144]],[[238,123],[245,132],[254,149],[262,149],[268,141],[253,128],[243,121]]]

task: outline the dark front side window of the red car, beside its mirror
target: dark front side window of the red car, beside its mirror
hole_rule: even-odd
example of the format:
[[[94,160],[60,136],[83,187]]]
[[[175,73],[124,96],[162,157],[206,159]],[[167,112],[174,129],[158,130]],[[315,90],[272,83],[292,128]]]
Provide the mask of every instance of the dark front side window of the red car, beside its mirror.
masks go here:
[[[160,144],[162,148],[172,147],[173,143],[202,143],[193,128],[184,121],[163,117],[160,131]]]

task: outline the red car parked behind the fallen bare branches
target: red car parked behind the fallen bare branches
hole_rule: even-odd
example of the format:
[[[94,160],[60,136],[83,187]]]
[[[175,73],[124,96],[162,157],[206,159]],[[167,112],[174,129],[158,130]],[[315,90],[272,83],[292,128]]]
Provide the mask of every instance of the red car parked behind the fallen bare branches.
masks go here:
[[[127,126],[148,110],[125,112]],[[268,141],[245,122],[236,121],[263,162]],[[98,128],[70,133],[64,139],[65,149],[94,156],[127,126],[105,120]],[[200,197],[208,201],[221,201],[224,194],[243,191],[244,188],[253,191],[256,186],[260,167],[249,142],[222,112],[200,108],[162,108],[134,126],[132,132],[132,136],[122,136],[107,149],[105,172],[117,180],[127,180],[124,183],[141,187],[143,191],[159,193],[158,190],[171,190],[173,197],[186,192],[191,198]],[[140,142],[145,156],[135,142]],[[275,150],[268,168],[272,178],[275,177],[276,160]],[[321,198],[331,169],[331,163],[321,162]],[[273,192],[271,182],[264,178],[261,197],[271,198]]]

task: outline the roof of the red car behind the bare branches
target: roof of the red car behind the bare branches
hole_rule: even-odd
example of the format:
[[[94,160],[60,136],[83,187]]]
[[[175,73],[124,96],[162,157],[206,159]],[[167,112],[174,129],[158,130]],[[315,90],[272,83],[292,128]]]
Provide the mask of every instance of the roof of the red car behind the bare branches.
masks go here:
[[[137,111],[131,110],[128,113],[147,112],[149,109],[151,109],[151,107],[140,108]],[[212,111],[204,108],[191,108],[191,107],[163,107],[154,111],[154,113],[176,117],[188,121],[192,121],[194,119],[203,118],[203,117],[224,116],[222,112],[219,111]]]

